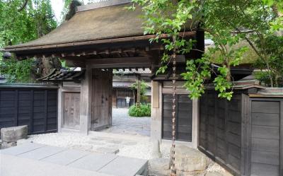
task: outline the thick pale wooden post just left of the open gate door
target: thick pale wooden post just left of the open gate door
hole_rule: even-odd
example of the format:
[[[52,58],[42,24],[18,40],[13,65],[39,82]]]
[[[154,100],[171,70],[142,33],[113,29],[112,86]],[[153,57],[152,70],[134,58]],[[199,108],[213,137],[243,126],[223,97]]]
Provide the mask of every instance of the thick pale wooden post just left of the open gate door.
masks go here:
[[[81,81],[80,132],[91,130],[92,69],[86,66],[85,77]]]

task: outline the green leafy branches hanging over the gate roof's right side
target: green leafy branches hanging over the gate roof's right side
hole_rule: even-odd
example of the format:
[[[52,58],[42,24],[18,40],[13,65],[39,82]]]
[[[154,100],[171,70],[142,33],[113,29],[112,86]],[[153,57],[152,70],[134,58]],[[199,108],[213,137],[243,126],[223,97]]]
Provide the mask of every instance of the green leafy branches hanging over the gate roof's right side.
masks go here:
[[[166,71],[173,54],[187,54],[194,49],[194,40],[185,40],[180,34],[183,31],[195,30],[197,26],[206,31],[215,44],[200,59],[187,59],[187,71],[182,74],[186,80],[185,87],[190,90],[190,97],[197,98],[204,93],[204,83],[212,79],[219,97],[231,99],[233,78],[231,66],[237,66],[243,54],[253,49],[270,78],[270,86],[277,86],[276,79],[282,77],[278,67],[272,64],[272,58],[282,59],[275,50],[269,51],[267,39],[276,37],[275,30],[282,29],[281,1],[272,0],[133,0],[141,6],[144,18],[144,34],[154,34],[151,42],[161,42],[166,51],[161,59],[163,66],[156,74]],[[161,39],[167,34],[170,38]],[[233,47],[246,40],[250,47]],[[277,40],[276,40],[277,41]],[[279,43],[277,43],[277,46]],[[273,44],[274,45],[274,44]],[[276,44],[275,44],[276,45]],[[204,51],[202,51],[204,52]],[[218,52],[217,58],[215,53]],[[278,52],[277,52],[278,53]],[[212,60],[219,64],[217,71],[212,69]],[[275,79],[275,81],[274,81]]]

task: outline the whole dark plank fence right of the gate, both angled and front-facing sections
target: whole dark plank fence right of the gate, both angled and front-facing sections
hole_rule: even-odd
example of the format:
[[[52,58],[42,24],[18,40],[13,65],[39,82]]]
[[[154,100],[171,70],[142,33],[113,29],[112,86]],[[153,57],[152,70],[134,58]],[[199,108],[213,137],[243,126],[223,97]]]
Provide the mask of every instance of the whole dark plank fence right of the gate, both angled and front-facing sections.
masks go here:
[[[248,91],[202,96],[199,149],[233,175],[283,175],[283,99]]]

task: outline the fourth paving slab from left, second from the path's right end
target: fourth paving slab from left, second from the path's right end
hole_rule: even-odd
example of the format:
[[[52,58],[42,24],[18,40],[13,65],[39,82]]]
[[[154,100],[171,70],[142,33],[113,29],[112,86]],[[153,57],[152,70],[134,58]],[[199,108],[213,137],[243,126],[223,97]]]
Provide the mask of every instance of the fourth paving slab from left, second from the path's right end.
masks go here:
[[[84,170],[98,171],[117,157],[118,156],[114,154],[93,153],[79,160],[76,160],[69,166]]]

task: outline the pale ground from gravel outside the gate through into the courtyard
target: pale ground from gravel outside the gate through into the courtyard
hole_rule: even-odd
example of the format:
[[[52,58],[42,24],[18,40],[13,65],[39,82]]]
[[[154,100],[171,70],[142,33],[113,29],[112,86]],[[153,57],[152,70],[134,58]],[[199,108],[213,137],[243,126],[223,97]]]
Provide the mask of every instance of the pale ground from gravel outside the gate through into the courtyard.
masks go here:
[[[118,151],[117,155],[149,160],[154,144],[149,140],[150,117],[129,117],[126,108],[112,109],[112,127],[100,132],[92,131],[88,136],[78,133],[52,133],[31,135],[18,141],[42,143],[91,152]],[[178,144],[177,144],[178,146]],[[169,158],[171,142],[161,143],[162,158]],[[218,164],[209,160],[208,172],[224,172]]]

